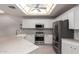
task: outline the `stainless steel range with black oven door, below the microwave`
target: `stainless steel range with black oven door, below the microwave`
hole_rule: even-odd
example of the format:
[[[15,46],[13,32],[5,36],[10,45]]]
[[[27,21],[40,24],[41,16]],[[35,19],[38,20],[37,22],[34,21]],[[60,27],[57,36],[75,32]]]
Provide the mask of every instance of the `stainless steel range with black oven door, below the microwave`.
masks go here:
[[[36,32],[35,44],[44,44],[44,33],[43,32]]]

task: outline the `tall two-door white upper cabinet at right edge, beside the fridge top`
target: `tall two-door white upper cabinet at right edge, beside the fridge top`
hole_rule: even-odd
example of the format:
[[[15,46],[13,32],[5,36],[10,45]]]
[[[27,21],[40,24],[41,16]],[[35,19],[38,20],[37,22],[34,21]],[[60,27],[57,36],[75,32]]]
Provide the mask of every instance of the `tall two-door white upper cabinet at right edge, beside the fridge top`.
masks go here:
[[[79,29],[79,5],[67,11],[69,29]]]

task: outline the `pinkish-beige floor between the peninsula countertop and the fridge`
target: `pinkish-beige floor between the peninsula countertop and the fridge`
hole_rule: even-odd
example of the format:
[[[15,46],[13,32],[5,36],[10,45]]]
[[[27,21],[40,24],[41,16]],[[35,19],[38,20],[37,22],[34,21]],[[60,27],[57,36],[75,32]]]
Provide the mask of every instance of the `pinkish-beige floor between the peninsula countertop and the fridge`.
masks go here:
[[[56,54],[52,45],[38,45],[39,48],[29,54]]]

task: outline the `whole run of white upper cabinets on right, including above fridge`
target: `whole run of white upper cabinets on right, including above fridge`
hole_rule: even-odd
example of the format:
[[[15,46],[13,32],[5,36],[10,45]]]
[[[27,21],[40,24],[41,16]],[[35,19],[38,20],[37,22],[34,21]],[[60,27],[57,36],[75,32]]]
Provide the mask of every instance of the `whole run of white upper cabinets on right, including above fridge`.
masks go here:
[[[69,29],[79,29],[79,5],[58,16],[56,20],[66,19],[69,20]]]

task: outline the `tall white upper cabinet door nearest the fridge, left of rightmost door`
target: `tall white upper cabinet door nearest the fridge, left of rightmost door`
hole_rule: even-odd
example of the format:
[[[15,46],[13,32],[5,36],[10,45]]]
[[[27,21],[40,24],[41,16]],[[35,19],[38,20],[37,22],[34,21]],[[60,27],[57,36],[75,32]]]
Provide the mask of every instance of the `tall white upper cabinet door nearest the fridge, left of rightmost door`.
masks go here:
[[[74,9],[68,11],[69,29],[74,29]]]

